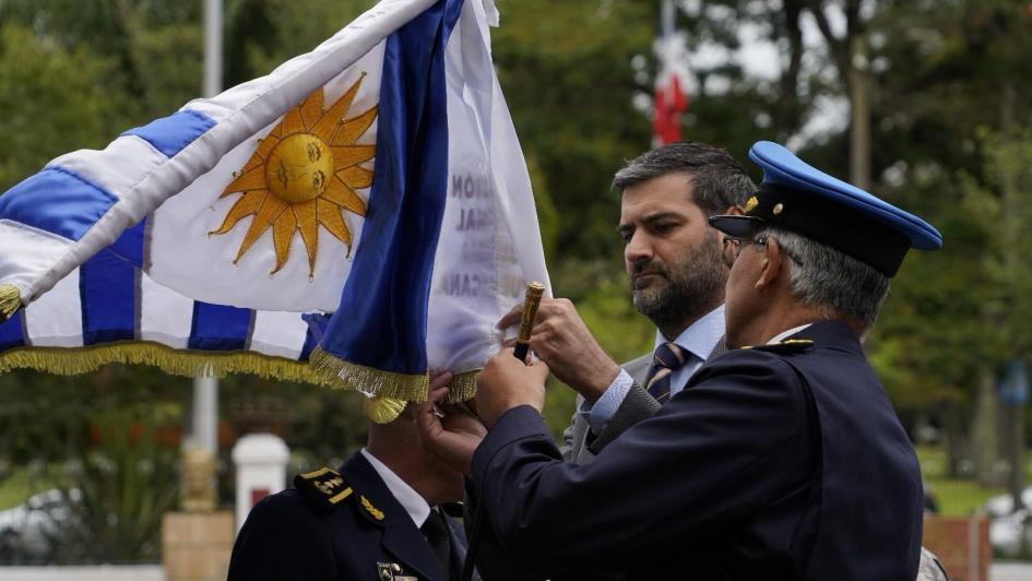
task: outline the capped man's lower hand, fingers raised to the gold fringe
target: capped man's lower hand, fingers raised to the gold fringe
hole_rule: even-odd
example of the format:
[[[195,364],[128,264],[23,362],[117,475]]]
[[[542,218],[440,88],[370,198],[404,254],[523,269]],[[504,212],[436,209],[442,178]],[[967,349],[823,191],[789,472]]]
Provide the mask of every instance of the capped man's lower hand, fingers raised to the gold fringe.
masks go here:
[[[459,405],[439,406],[438,402],[448,395],[451,378],[451,374],[431,377],[429,399],[416,407],[415,418],[423,448],[468,476],[473,452],[487,434],[487,428],[475,415]]]

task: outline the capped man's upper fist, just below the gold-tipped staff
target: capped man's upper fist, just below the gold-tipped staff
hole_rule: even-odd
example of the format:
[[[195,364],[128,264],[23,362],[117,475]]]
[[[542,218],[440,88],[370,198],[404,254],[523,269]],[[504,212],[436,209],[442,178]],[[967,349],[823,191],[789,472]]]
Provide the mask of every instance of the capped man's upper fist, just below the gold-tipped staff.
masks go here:
[[[545,379],[548,366],[544,361],[525,365],[506,348],[487,360],[476,377],[476,410],[488,428],[501,414],[513,407],[530,405],[538,412],[545,406]]]

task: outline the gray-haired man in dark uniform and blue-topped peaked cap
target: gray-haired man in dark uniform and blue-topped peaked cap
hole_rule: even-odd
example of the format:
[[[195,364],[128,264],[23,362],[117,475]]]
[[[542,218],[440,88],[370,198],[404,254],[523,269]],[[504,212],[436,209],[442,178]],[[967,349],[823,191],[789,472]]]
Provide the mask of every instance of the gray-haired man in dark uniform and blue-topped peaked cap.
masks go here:
[[[548,369],[508,351],[478,380],[486,437],[419,413],[494,532],[541,570],[915,579],[921,473],[861,337],[906,250],[941,238],[780,145],[749,155],[764,180],[746,215],[711,218],[728,235],[732,351],[654,416],[564,463],[539,415]]]

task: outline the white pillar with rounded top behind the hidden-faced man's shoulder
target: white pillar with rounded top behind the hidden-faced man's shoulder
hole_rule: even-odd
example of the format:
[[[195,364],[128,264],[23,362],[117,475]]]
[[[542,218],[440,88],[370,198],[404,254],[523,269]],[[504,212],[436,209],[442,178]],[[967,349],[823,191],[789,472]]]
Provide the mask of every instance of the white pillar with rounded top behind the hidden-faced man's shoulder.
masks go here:
[[[290,451],[272,434],[249,434],[233,447],[237,471],[237,531],[244,526],[251,507],[286,487],[286,466]]]

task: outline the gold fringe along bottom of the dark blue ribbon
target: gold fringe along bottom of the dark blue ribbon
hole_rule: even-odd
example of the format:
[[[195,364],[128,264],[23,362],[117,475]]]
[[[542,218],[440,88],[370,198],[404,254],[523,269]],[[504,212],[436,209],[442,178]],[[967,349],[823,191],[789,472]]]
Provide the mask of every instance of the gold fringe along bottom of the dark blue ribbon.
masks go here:
[[[429,391],[427,374],[398,374],[353,364],[322,351],[322,347],[312,349],[309,361],[324,382],[368,395],[425,402]]]

